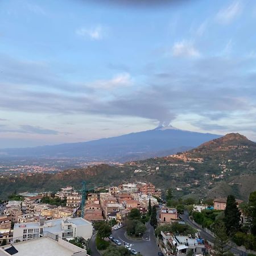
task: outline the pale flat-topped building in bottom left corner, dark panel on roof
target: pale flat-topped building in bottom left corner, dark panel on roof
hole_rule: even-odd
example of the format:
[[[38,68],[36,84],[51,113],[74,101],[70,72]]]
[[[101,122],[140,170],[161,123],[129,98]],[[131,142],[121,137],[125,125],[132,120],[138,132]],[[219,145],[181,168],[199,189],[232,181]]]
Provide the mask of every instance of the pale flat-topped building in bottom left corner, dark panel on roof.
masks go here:
[[[40,237],[0,247],[0,256],[89,256],[85,249],[58,238]]]

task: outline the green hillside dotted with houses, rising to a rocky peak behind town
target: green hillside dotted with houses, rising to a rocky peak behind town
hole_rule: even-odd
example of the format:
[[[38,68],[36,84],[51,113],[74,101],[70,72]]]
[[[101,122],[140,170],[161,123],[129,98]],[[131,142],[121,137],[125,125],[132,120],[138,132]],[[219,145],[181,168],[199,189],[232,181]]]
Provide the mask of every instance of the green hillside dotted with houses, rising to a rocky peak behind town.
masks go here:
[[[240,134],[227,134],[193,150],[115,166],[67,170],[59,174],[0,177],[0,199],[25,191],[56,191],[65,185],[102,187],[149,181],[157,188],[172,187],[176,197],[224,197],[247,200],[256,191],[256,143]]]

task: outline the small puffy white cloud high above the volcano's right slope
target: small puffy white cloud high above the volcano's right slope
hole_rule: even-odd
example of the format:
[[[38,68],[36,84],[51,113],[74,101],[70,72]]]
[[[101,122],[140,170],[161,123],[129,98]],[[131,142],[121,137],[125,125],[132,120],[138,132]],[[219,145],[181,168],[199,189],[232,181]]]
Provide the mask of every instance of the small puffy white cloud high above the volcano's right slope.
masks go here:
[[[199,57],[200,52],[197,51],[191,42],[183,40],[174,44],[172,55],[176,57]]]

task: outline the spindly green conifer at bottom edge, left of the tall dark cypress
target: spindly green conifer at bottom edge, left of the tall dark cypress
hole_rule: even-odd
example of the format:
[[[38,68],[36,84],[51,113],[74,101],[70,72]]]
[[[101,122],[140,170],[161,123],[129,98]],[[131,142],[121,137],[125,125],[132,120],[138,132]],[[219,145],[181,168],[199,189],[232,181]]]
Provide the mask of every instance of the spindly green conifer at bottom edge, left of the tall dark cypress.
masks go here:
[[[220,219],[213,225],[214,232],[214,250],[216,251],[216,256],[224,256],[229,251],[229,237],[226,232],[225,222]]]

